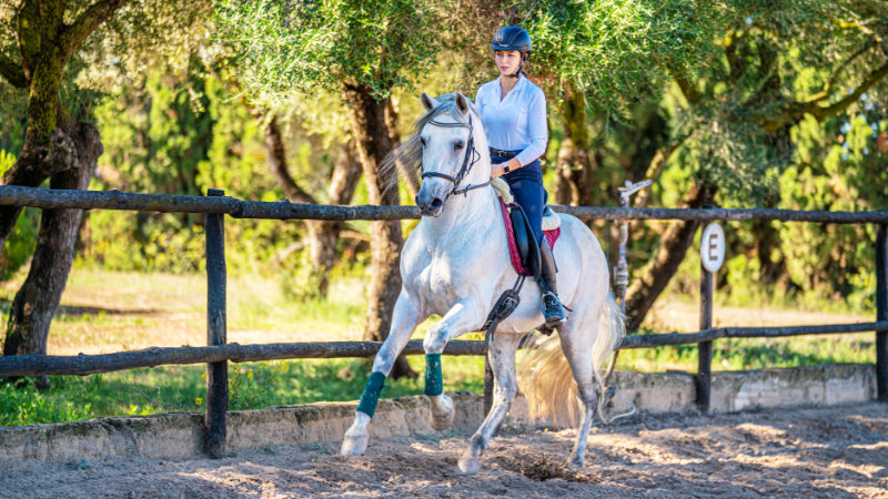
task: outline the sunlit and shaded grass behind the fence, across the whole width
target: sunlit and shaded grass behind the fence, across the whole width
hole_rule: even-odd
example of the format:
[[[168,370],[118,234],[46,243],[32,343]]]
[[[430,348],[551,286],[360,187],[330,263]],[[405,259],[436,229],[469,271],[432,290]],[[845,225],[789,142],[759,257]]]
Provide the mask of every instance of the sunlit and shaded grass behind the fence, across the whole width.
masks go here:
[[[18,278],[19,283],[7,283],[0,288],[0,301],[6,301],[6,307],[23,275]],[[252,332],[249,343],[359,338],[366,306],[365,285],[363,278],[339,276],[332,282],[329,299],[296,301],[287,298],[273,279],[232,277],[229,279],[229,340],[244,343],[238,339],[238,332]],[[205,344],[205,296],[203,275],[75,268],[62,298],[61,313],[50,330],[50,353],[77,355],[79,352]],[[2,312],[6,315],[7,310]],[[0,317],[0,320],[6,319],[6,316]],[[423,323],[414,338],[422,338],[435,320]],[[481,335],[470,337],[480,339]],[[874,363],[874,342],[872,333],[722,339],[714,344],[713,369]],[[423,393],[424,358],[412,356],[408,360],[420,378],[389,380],[383,397]],[[482,357],[445,357],[445,389],[481,393],[483,365]],[[696,345],[685,345],[624,350],[617,368],[693,373],[696,365]],[[229,370],[230,407],[254,409],[356,400],[370,368],[370,359],[232,364]],[[0,384],[0,426],[202,411],[205,397],[203,373],[202,366],[167,366],[85,377],[52,376],[51,388],[42,393],[28,383],[22,387]]]

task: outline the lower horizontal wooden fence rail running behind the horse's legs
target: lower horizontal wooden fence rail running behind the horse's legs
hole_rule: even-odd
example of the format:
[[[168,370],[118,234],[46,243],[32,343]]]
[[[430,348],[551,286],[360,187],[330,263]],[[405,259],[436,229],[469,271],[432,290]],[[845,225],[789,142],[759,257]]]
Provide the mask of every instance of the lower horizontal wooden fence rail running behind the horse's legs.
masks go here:
[[[632,335],[623,338],[620,349],[690,345],[716,338],[777,338],[803,335],[866,333],[888,329],[888,320],[859,324],[831,324],[791,327],[719,327],[698,333]],[[178,348],[151,347],[142,350],[100,355],[17,355],[0,357],[0,376],[92,375],[114,370],[157,367],[163,365],[204,364],[231,360],[235,363],[282,360],[293,358],[359,358],[373,357],[380,342],[271,343],[264,345],[225,345]],[[423,342],[412,339],[404,355],[424,354]],[[453,340],[446,355],[485,355],[486,342]]]

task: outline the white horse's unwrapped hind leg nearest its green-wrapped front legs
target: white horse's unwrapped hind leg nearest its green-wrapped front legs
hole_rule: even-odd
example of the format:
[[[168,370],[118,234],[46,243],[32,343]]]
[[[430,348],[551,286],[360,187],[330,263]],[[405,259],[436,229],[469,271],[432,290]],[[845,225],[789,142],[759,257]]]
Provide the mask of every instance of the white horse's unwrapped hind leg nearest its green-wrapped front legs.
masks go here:
[[[493,389],[493,406],[484,422],[472,436],[472,445],[463,452],[457,462],[457,472],[461,475],[476,473],[481,468],[478,457],[487,448],[496,428],[503,422],[512,400],[518,393],[518,379],[515,374],[515,352],[518,349],[521,336],[496,335],[491,348],[487,350],[487,358],[491,361],[493,377],[496,385]]]

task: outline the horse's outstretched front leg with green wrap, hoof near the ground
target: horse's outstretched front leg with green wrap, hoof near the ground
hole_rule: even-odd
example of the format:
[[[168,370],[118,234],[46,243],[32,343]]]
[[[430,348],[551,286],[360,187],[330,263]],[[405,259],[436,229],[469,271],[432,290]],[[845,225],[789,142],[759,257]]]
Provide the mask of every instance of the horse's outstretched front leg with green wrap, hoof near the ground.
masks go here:
[[[389,337],[385,338],[380,352],[376,353],[376,357],[373,359],[370,379],[364,387],[364,393],[361,394],[361,401],[357,405],[357,410],[355,410],[354,422],[342,440],[340,454],[357,456],[366,450],[369,440],[367,426],[376,411],[376,404],[380,399],[380,393],[384,388],[385,378],[392,371],[395,359],[407,345],[410,336],[421,320],[420,304],[411,299],[402,288],[401,295],[395,302]]]

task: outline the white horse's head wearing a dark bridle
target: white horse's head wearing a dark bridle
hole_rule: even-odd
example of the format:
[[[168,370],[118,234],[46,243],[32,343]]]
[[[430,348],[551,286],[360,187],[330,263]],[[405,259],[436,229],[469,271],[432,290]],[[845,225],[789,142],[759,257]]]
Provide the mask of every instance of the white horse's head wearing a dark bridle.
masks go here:
[[[462,93],[437,99],[423,93],[420,100],[426,113],[417,126],[423,184],[416,194],[416,206],[423,216],[436,217],[450,196],[490,183],[490,166],[486,172],[473,171],[487,152],[487,141],[481,116]],[[471,180],[483,183],[472,184]]]

